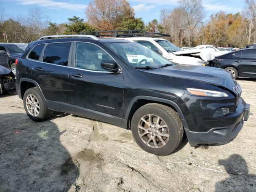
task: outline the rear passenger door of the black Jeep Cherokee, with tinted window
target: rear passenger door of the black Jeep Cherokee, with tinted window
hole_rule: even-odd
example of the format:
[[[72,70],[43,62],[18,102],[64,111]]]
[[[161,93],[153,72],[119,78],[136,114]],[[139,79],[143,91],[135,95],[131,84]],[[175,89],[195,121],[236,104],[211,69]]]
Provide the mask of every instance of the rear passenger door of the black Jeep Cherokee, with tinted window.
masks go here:
[[[74,113],[68,82],[71,45],[72,42],[45,44],[38,60],[35,57],[32,68],[32,77],[38,82],[50,108],[68,113]],[[33,50],[28,55],[28,59],[33,60],[36,52]]]

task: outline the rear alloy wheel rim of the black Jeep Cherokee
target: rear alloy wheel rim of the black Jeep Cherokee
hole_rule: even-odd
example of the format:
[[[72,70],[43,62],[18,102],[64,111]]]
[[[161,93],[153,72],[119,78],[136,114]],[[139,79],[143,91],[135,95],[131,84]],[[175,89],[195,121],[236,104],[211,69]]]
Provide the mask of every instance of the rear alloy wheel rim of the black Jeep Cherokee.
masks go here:
[[[26,97],[26,108],[29,114],[33,117],[37,117],[40,113],[39,101],[33,94],[29,94]]]

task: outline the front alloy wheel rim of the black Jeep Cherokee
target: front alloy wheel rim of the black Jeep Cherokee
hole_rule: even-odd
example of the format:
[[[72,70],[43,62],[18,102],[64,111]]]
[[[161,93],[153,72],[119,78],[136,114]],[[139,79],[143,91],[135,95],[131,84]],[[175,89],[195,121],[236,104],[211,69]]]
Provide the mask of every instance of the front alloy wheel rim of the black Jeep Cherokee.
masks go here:
[[[147,114],[138,122],[140,139],[151,148],[162,148],[169,140],[170,132],[162,118],[154,114]]]

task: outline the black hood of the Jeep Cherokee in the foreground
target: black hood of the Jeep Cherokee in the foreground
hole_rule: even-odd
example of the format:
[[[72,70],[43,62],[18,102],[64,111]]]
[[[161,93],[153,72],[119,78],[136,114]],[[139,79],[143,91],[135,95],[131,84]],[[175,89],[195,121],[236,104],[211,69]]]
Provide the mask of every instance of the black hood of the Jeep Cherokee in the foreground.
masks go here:
[[[178,78],[185,78],[191,80],[198,80],[207,82],[217,86],[222,86],[233,92],[233,87],[237,82],[232,77],[230,72],[214,67],[201,67],[192,65],[173,65],[155,70],[148,70],[148,72],[161,74],[166,76],[173,76]]]

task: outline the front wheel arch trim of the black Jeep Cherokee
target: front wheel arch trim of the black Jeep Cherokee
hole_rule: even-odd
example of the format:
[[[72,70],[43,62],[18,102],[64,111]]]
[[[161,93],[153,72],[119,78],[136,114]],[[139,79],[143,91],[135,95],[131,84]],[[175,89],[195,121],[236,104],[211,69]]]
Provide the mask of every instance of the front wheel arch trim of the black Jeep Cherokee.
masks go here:
[[[148,103],[159,103],[159,104],[163,104],[163,105],[171,107],[180,116],[180,119],[182,120],[182,124],[183,124],[184,128],[188,129],[188,125],[186,123],[184,115],[183,115],[180,107],[178,106],[178,104],[176,104],[176,102],[168,100],[168,99],[164,99],[164,98],[157,98],[157,97],[151,97],[151,96],[136,96],[135,98],[132,99],[132,101],[130,102],[130,104],[126,110],[125,117],[122,121],[122,128],[130,129],[131,128],[130,122],[131,122],[134,112],[141,106],[148,104]]]

